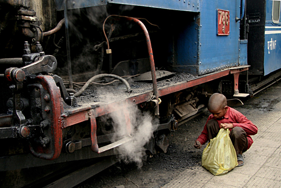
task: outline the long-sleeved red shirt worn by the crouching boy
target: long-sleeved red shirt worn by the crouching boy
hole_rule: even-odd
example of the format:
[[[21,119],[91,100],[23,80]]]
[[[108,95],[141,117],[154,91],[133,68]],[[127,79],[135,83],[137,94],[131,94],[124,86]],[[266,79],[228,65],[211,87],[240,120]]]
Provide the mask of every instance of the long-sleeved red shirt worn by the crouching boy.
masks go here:
[[[211,119],[215,119],[213,114],[208,117],[207,122]],[[200,141],[201,144],[205,144],[208,141],[208,131],[206,126],[207,122],[204,126],[201,135],[197,139],[197,141]],[[240,126],[241,128],[243,128],[247,134],[248,149],[253,143],[253,140],[250,135],[255,135],[258,132],[258,128],[256,125],[254,125],[250,120],[248,120],[242,113],[230,107],[228,107],[228,110],[226,111],[224,116],[220,120],[217,120],[217,122],[219,123],[219,127],[220,124],[233,124],[234,127]]]

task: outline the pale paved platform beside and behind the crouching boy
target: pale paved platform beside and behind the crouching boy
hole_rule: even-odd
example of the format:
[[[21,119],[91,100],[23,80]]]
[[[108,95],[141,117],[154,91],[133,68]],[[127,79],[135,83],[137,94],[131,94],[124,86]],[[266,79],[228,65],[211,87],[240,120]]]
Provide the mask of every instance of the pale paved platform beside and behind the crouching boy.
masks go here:
[[[281,102],[272,111],[251,116],[246,115],[257,125],[258,134],[243,154],[242,167],[220,176],[203,167],[187,169],[162,188],[281,188]]]

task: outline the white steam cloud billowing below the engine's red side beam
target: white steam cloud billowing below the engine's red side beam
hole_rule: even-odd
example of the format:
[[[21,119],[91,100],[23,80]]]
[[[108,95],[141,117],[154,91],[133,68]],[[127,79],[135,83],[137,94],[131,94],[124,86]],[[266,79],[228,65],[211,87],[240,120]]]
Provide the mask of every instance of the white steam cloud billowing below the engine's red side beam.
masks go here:
[[[136,105],[128,109],[131,125],[132,140],[117,147],[122,159],[125,163],[135,162],[140,168],[142,160],[146,156],[144,145],[153,138],[153,132],[158,125],[157,120],[154,120],[148,112],[141,112]],[[114,136],[112,141],[118,141],[124,136],[127,136],[126,120],[123,110],[112,112]]]

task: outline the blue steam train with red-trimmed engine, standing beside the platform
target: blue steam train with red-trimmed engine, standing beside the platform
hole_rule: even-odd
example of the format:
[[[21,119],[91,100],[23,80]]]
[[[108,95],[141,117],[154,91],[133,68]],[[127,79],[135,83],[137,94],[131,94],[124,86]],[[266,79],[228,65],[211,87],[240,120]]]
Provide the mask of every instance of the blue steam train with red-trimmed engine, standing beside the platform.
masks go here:
[[[0,187],[112,156],[141,165],[211,94],[279,80],[280,4],[0,0]]]

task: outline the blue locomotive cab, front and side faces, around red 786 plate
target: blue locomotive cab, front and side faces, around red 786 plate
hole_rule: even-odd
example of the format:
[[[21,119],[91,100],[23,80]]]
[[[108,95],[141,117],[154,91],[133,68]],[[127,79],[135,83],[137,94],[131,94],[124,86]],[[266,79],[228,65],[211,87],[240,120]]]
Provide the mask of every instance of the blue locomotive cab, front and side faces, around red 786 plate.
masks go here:
[[[175,42],[173,67],[177,71],[203,75],[221,69],[247,64],[247,42],[240,41],[240,1],[199,1],[200,14]],[[229,33],[218,34],[219,10],[229,13]],[[182,22],[185,25],[185,22]],[[222,22],[221,22],[222,25]]]

